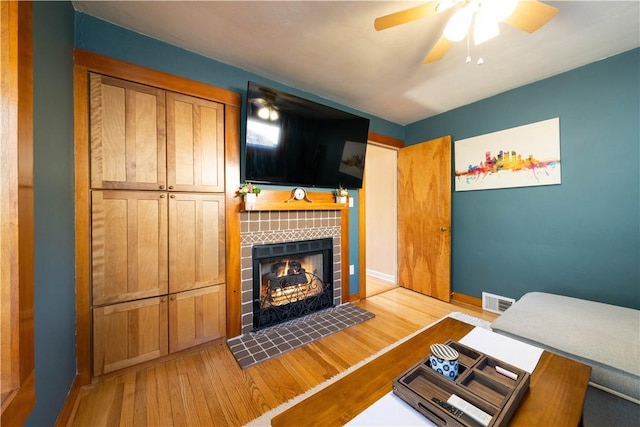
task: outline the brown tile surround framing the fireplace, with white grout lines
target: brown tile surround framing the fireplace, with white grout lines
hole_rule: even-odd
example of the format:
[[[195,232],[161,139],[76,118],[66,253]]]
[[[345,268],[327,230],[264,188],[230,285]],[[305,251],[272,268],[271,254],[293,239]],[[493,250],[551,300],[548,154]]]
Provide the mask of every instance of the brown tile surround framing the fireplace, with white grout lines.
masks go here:
[[[242,334],[254,329],[253,247],[330,238],[333,241],[333,305],[342,303],[340,210],[243,211],[240,213]]]

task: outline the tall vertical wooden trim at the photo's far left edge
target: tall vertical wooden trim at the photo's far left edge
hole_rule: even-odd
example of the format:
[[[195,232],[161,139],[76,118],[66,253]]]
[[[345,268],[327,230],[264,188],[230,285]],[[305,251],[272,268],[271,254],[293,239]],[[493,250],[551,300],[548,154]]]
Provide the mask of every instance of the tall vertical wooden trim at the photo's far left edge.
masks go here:
[[[34,174],[33,70],[34,56],[41,56],[34,55],[33,9],[30,1],[0,2],[0,425],[3,426],[25,424],[36,404],[36,391],[41,403],[46,392],[40,393],[48,387],[41,374],[34,380],[34,242],[40,239],[34,239],[34,199],[38,198],[34,198],[37,172]],[[38,94],[42,96],[41,92]],[[44,236],[42,231],[46,232],[46,227],[38,230],[39,236]],[[53,313],[55,307],[38,307],[38,311],[44,310]],[[37,350],[38,357],[47,357],[41,348]]]

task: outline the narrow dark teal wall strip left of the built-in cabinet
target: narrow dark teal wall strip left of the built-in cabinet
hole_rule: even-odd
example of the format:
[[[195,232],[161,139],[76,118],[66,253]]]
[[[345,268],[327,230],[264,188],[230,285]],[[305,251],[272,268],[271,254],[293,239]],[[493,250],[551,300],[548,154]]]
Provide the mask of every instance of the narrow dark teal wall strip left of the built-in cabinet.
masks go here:
[[[70,2],[34,2],[36,405],[27,426],[54,425],[76,375],[73,19]]]

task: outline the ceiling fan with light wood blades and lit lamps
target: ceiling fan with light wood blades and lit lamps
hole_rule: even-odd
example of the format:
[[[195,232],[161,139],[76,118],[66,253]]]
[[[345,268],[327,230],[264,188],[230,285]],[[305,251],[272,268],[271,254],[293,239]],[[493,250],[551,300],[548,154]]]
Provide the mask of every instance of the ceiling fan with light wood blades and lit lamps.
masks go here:
[[[454,11],[455,10],[455,11]],[[549,22],[558,9],[536,0],[439,0],[377,18],[377,31],[449,11],[451,17],[424,63],[440,60],[454,42],[467,36],[473,24],[476,45],[498,35],[498,23],[506,22],[528,33]]]

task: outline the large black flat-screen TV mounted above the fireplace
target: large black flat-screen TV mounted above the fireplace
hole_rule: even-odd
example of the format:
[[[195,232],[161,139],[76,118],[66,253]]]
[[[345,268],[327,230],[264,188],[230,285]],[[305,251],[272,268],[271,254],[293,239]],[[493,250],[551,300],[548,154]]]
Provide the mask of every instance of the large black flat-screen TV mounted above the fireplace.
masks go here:
[[[362,188],[369,119],[249,82],[245,181]]]

